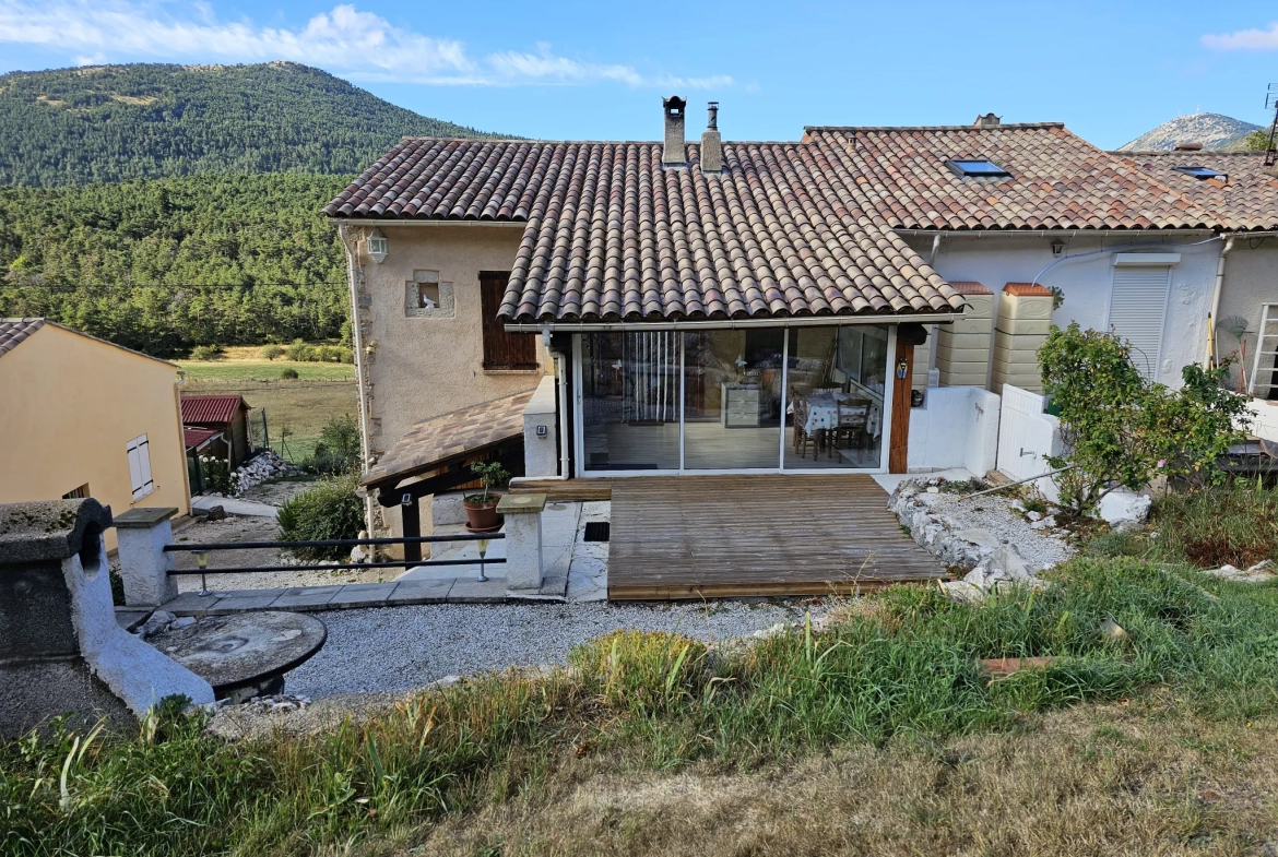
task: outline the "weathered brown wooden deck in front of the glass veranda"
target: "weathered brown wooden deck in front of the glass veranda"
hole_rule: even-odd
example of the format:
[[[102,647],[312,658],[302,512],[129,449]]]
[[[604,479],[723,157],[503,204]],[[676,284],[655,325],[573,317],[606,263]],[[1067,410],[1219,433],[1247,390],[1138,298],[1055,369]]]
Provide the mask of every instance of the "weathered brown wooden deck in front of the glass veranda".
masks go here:
[[[611,482],[612,600],[828,595],[946,575],[866,475]]]

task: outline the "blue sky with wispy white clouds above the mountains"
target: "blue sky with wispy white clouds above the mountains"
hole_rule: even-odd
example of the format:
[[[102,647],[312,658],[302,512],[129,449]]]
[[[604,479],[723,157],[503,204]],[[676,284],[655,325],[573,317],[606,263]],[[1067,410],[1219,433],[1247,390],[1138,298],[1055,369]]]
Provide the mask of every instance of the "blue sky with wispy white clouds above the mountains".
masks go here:
[[[1278,4],[0,0],[0,72],[272,59],[539,138],[654,139],[675,92],[728,139],[992,110],[1117,147],[1199,109],[1268,124]]]

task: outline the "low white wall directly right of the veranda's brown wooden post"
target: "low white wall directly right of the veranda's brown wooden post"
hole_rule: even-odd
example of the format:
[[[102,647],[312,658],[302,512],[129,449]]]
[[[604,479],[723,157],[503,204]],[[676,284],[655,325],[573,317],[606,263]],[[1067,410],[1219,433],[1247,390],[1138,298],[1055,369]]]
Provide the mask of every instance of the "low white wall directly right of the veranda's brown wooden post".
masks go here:
[[[998,456],[998,396],[979,387],[932,387],[921,407],[910,409],[912,470],[965,467],[976,476]]]

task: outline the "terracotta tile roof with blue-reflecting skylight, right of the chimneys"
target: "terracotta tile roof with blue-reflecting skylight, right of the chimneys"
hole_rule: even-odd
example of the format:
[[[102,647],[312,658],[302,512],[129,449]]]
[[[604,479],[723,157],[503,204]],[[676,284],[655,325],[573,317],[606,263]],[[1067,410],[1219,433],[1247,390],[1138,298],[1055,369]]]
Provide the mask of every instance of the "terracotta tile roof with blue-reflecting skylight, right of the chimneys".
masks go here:
[[[1058,123],[809,128],[851,158],[852,179],[892,229],[1197,229],[1215,217]],[[1008,178],[960,178],[947,160],[989,160]]]

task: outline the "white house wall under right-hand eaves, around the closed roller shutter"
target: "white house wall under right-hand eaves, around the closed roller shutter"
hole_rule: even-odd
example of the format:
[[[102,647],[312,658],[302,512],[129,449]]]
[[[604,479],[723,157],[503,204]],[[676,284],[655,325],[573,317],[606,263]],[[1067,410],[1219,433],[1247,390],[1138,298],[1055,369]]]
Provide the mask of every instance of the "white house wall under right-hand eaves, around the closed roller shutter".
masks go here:
[[[1086,234],[1063,235],[1066,257],[1103,250],[1082,258],[1066,258],[1039,276],[1061,257],[1052,255],[1053,235],[1001,235],[996,232],[955,234],[941,240],[935,269],[951,282],[984,284],[996,295],[1008,282],[1038,282],[1059,286],[1065,303],[1052,314],[1052,322],[1066,326],[1079,322],[1084,328],[1105,330],[1109,322],[1109,298],[1113,290],[1113,253],[1174,252],[1181,254],[1172,266],[1171,291],[1163,323],[1163,347],[1158,360],[1157,381],[1180,386],[1181,367],[1199,363],[1206,347],[1206,314],[1212,304],[1217,259],[1222,243],[1185,246],[1212,238],[1210,232],[1131,232],[1109,236]],[[924,255],[932,250],[932,235],[907,239]],[[1143,246],[1125,246],[1139,241]],[[1153,244],[1181,244],[1166,249]],[[1144,246],[1150,244],[1150,246]],[[1232,261],[1232,259],[1231,259]]]

